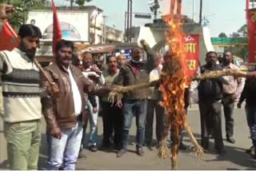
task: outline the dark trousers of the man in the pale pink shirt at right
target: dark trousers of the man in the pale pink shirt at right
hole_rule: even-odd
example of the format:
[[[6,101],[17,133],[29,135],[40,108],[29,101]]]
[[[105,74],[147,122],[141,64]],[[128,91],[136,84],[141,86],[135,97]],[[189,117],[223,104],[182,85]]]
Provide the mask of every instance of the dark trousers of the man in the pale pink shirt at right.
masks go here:
[[[224,109],[226,137],[233,137],[234,134],[234,101],[232,95],[223,97],[222,105]]]

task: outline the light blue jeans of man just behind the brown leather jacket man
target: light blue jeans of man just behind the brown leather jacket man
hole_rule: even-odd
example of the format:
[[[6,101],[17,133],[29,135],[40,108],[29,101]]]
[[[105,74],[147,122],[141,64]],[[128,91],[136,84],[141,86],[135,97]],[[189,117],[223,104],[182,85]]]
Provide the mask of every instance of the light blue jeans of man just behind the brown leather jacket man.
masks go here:
[[[98,108],[98,106],[99,106],[98,96],[95,96],[95,100],[96,100],[97,108]],[[98,127],[97,127],[98,112],[93,113],[93,105],[91,105],[90,101],[87,101],[87,105],[88,105],[88,117],[89,117],[89,122],[90,122],[90,135],[89,135],[89,144],[88,144],[88,146],[91,146],[91,145],[96,145],[96,141],[97,141],[97,136],[98,136]],[[85,136],[85,134],[83,136]]]

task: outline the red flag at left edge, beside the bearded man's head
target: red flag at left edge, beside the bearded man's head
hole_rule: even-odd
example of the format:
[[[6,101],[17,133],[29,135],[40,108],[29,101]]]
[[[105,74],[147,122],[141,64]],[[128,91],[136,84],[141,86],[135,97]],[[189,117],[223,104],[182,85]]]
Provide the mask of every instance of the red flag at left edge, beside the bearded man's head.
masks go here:
[[[18,36],[16,30],[5,20],[0,32],[0,50],[13,50],[18,47]]]

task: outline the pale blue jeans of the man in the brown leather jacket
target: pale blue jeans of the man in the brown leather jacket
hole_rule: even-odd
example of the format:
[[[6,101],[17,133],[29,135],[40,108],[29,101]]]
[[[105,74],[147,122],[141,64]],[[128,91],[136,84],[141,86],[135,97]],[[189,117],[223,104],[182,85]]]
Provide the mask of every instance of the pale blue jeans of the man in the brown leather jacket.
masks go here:
[[[78,153],[82,140],[82,121],[78,121],[76,127],[61,129],[62,138],[51,137],[50,158],[48,170],[58,170],[60,166],[64,170],[74,170],[78,159]]]

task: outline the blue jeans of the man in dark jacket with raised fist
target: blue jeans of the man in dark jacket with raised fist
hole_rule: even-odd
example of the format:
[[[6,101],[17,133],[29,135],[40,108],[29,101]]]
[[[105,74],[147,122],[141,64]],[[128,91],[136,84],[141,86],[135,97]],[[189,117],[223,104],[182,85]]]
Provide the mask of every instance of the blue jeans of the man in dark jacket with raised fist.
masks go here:
[[[146,119],[146,99],[145,100],[129,100],[124,102],[122,128],[122,148],[127,149],[129,131],[133,117],[136,117],[137,147],[141,148],[145,138],[145,119]]]

